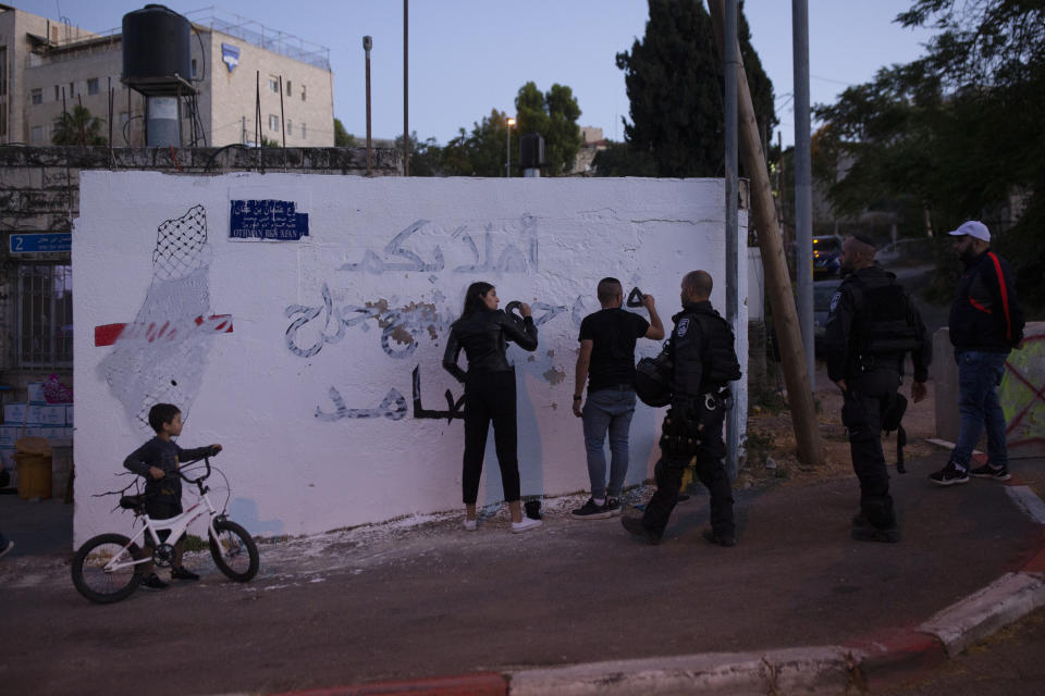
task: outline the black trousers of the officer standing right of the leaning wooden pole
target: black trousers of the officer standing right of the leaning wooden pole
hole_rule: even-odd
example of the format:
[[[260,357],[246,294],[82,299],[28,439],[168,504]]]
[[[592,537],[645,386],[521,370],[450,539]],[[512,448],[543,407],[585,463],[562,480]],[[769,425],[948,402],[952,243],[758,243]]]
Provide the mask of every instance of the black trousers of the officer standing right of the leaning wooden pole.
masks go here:
[[[882,452],[882,413],[900,384],[896,370],[873,370],[846,377],[841,422],[849,431],[852,470],[860,481],[860,513],[873,526],[896,526],[889,474]]]

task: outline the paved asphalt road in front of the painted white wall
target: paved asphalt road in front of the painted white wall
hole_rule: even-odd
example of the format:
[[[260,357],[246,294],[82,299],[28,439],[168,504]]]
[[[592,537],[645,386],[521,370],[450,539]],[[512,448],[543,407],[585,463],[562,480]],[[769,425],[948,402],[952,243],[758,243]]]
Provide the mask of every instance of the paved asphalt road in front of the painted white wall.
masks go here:
[[[261,547],[247,585],[206,557],[197,584],[88,604],[61,556],[0,563],[0,683],[10,693],[273,692],[598,660],[838,644],[911,626],[1020,568],[1040,529],[996,482],[939,490],[943,455],[895,477],[898,545],[848,538],[855,481],[743,492],[740,544],[705,544],[706,498],[665,543],[616,520],[512,535],[459,520]],[[1020,467],[1041,462],[1017,462]]]

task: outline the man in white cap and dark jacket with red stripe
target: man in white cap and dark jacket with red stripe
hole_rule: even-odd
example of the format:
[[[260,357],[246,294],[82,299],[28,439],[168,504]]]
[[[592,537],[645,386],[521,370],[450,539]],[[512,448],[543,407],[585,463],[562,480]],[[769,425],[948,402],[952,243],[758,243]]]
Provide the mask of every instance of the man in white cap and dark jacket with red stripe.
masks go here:
[[[1008,262],[991,250],[991,233],[970,220],[950,233],[966,269],[950,306],[950,343],[958,363],[958,443],[947,465],[930,475],[941,486],[978,478],[1009,480],[1005,413],[997,386],[1009,351],[1023,339],[1023,310]],[[972,450],[987,428],[987,463],[970,470]]]

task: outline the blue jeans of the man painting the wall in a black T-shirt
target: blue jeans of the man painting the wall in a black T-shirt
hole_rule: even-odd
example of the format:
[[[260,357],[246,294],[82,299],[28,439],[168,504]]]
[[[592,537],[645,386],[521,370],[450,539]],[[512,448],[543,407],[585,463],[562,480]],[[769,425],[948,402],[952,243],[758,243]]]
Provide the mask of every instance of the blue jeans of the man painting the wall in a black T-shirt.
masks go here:
[[[624,386],[589,391],[582,413],[591,497],[604,498],[607,494],[606,456],[602,446],[608,432],[608,495],[615,498],[620,495],[624,477],[628,474],[628,430],[631,427],[631,415],[635,414],[635,391]]]

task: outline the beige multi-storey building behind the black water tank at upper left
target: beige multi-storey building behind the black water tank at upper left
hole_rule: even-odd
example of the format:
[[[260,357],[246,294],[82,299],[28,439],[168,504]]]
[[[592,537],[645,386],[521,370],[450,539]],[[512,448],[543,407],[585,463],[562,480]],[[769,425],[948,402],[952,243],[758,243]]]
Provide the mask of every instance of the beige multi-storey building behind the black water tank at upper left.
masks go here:
[[[181,101],[182,144],[329,147],[329,49],[213,8],[189,13],[196,90]],[[100,34],[0,4],[0,144],[51,142],[54,120],[82,104],[113,147],[145,145],[145,98],[120,82],[119,29]],[[260,113],[256,108],[260,102]]]

